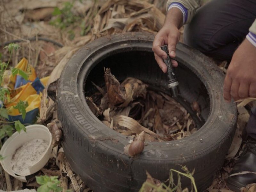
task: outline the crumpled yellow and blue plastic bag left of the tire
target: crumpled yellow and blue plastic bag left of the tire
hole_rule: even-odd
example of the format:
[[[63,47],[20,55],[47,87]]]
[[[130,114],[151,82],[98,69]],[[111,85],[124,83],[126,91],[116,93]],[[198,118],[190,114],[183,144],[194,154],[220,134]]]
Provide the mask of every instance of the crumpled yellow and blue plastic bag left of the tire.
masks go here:
[[[32,124],[40,110],[41,92],[46,86],[49,76],[39,79],[36,76],[35,69],[28,64],[28,60],[25,58],[15,68],[19,68],[29,74],[28,80],[19,75],[9,76],[7,87],[10,90],[10,100],[6,101],[4,105],[8,111],[9,121],[20,120],[23,124]],[[19,110],[14,108],[19,101],[28,102],[24,120]]]

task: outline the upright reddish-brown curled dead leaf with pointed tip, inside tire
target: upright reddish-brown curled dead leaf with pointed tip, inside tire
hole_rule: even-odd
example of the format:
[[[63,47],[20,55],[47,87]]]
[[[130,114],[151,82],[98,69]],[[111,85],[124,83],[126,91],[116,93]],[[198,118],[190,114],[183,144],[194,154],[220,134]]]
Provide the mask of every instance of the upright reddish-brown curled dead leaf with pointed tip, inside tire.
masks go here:
[[[110,68],[107,68],[104,74],[107,87],[108,102],[112,106],[123,103],[125,101],[125,90],[121,90],[120,83],[115,76],[111,74]]]

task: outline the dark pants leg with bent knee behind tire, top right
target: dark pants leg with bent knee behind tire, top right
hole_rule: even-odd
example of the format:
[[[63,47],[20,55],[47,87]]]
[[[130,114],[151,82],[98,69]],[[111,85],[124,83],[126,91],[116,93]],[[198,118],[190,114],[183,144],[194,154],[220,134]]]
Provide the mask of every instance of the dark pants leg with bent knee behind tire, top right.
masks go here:
[[[184,29],[184,42],[217,60],[231,60],[256,18],[256,0],[212,0]]]

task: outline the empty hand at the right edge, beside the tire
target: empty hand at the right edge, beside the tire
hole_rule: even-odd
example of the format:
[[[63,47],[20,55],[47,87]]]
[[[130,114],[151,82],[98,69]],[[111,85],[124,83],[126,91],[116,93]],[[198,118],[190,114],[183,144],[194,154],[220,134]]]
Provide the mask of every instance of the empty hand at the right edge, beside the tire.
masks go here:
[[[256,47],[247,39],[237,48],[228,66],[223,86],[227,102],[256,97]]]

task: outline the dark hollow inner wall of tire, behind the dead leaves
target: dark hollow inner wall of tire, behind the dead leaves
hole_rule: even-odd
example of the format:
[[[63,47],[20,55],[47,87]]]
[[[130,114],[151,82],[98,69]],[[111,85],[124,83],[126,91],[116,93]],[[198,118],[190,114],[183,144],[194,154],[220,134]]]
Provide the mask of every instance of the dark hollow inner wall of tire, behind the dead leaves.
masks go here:
[[[148,84],[149,89],[170,94],[166,75],[157,65],[153,52],[124,50],[123,52],[109,54],[95,62],[89,75],[84,79],[84,94],[86,97],[90,97],[97,91],[92,82],[100,87],[105,86],[104,68],[110,68],[111,73],[119,82],[127,77],[134,77]],[[178,67],[175,68],[175,75],[179,82],[181,95],[174,99],[190,113],[197,129],[199,129],[207,120],[211,107],[206,87],[199,77],[183,63],[179,63]],[[191,103],[194,101],[200,106],[200,118],[191,108]]]

